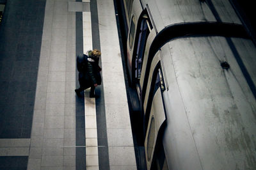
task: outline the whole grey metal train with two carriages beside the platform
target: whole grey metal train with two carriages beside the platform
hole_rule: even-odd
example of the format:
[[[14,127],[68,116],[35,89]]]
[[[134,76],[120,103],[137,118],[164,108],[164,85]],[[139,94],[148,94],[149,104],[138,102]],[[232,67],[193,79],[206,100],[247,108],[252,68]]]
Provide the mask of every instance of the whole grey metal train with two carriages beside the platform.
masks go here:
[[[148,169],[256,169],[256,48],[230,1],[124,0]]]

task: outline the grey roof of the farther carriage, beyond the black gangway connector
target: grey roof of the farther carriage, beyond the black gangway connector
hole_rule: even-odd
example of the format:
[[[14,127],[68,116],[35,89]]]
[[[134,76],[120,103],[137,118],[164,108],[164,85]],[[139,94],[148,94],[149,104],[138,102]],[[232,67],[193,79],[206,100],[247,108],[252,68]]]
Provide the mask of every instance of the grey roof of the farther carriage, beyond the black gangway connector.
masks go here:
[[[158,32],[164,27],[183,22],[221,22],[241,24],[229,1],[212,0],[206,3],[199,0],[144,0],[143,8],[150,10],[152,20]]]

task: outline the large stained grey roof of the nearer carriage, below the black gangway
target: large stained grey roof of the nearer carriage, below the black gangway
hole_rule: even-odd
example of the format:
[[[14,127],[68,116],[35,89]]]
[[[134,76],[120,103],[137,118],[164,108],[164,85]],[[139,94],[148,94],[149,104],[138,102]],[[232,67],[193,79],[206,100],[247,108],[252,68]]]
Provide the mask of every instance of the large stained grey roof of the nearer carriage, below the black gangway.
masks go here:
[[[164,147],[173,169],[256,167],[256,48],[248,39],[230,40],[179,38],[161,48],[169,86]]]

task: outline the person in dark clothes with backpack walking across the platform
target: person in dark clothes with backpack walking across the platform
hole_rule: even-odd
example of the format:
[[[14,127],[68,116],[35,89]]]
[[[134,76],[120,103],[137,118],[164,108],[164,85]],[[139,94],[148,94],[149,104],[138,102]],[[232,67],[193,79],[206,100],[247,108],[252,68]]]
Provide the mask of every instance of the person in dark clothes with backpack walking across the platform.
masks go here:
[[[77,56],[77,70],[79,72],[79,85],[78,89],[75,89],[77,97],[81,97],[81,91],[84,89],[90,89],[90,97],[95,97],[94,90],[101,84],[101,68],[99,66],[99,58],[101,52],[97,49],[89,50],[86,54]]]

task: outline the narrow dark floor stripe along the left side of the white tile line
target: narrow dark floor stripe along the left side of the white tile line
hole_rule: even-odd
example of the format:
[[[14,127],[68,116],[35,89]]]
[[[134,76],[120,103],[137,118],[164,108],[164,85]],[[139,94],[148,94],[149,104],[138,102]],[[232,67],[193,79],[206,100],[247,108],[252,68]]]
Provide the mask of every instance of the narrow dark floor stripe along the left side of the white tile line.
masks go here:
[[[77,0],[80,1],[81,0]],[[76,56],[83,54],[83,13],[76,12]],[[76,69],[76,88],[79,88]],[[74,91],[75,93],[75,91]],[[84,97],[76,97],[76,169],[86,169]]]

